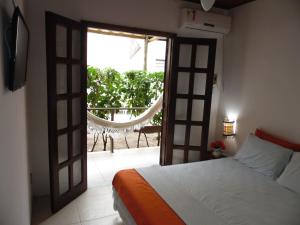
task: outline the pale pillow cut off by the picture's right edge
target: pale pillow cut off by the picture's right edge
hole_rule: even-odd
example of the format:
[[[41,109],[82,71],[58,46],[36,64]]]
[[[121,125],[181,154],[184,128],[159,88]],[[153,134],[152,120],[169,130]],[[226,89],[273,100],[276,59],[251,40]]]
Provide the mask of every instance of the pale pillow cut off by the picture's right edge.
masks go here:
[[[300,194],[300,152],[295,152],[277,182]]]

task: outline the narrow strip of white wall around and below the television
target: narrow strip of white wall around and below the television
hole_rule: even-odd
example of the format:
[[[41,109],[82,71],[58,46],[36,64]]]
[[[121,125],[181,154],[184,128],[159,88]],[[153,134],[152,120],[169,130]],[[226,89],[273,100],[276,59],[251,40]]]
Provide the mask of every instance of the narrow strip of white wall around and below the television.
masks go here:
[[[24,11],[24,2],[16,1]],[[25,88],[6,88],[5,29],[13,13],[11,0],[0,1],[0,224],[30,224],[30,188]]]

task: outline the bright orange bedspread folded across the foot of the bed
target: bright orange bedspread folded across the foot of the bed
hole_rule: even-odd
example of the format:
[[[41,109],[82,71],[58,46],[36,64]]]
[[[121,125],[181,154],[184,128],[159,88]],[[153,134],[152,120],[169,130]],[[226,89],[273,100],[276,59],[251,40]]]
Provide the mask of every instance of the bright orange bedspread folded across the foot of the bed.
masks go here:
[[[184,222],[134,169],[119,171],[113,186],[138,225],[182,225]]]

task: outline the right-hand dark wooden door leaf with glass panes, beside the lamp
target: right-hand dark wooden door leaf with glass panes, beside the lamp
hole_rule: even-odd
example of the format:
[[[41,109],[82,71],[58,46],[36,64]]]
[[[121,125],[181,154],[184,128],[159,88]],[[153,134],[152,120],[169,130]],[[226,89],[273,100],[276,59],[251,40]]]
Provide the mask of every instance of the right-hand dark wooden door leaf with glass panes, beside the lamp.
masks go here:
[[[215,39],[175,38],[169,46],[160,163],[207,159]]]

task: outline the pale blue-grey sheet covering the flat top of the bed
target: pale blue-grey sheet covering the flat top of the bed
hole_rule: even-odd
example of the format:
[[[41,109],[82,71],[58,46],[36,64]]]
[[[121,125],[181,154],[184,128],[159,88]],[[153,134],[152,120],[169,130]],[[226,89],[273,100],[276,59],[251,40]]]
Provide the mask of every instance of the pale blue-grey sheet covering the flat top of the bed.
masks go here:
[[[137,171],[189,225],[300,225],[300,195],[232,158]]]

